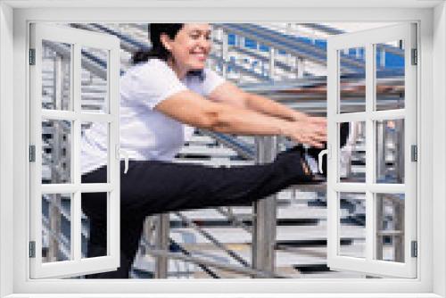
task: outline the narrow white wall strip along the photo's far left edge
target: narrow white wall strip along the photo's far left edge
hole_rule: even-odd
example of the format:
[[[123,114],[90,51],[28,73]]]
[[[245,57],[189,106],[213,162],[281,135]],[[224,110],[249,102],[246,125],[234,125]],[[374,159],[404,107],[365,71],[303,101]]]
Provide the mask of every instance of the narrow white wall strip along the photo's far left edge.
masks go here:
[[[12,8],[0,3],[0,297],[12,293],[12,54]]]

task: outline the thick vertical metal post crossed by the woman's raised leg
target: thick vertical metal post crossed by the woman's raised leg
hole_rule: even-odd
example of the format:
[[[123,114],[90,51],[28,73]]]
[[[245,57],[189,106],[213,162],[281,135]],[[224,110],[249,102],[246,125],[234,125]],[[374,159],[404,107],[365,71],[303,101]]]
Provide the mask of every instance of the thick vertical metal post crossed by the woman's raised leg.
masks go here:
[[[256,137],[257,161],[273,161],[277,155],[277,137]],[[254,203],[254,223],[252,234],[252,267],[273,273],[275,270],[276,244],[276,199],[270,195]]]

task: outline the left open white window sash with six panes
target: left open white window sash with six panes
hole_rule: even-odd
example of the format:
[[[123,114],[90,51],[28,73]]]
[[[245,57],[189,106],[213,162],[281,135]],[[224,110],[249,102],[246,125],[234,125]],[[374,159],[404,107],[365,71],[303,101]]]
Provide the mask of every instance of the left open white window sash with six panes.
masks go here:
[[[30,259],[30,277],[73,277],[83,274],[116,270],[120,266],[120,40],[117,37],[82,29],[33,23],[30,26],[30,47],[35,50],[35,65],[29,69],[30,144],[35,145],[36,160],[29,164],[30,173],[30,241],[34,241],[35,257]],[[70,48],[70,110],[42,108],[42,41],[66,43]],[[81,50],[93,47],[106,51],[107,98],[105,113],[81,109]],[[71,156],[70,183],[42,184],[42,120],[70,120]],[[81,183],[80,143],[81,123],[102,122],[108,126],[108,179],[106,183]],[[107,193],[107,255],[81,257],[81,194]],[[42,195],[70,194],[70,260],[42,261]]]

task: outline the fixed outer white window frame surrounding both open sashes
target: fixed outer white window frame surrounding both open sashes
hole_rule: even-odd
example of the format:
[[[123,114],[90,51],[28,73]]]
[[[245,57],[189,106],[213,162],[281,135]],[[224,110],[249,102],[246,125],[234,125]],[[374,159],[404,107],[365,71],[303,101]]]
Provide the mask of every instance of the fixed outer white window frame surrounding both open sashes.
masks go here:
[[[446,297],[446,8],[440,1],[387,0],[275,1],[259,3],[201,3],[176,1],[4,1],[0,3],[0,297],[132,296],[129,293],[170,293],[170,297]],[[366,3],[366,4],[365,4]],[[432,8],[436,4],[435,8]],[[34,8],[30,8],[33,5]],[[78,5],[78,9],[55,6]],[[95,6],[86,8],[87,5]],[[107,7],[114,5],[115,7]],[[134,6],[123,9],[119,6]],[[181,5],[178,7],[178,5]],[[337,8],[333,8],[337,5]],[[353,5],[375,6],[354,8]],[[404,5],[404,7],[402,7]],[[102,6],[99,8],[98,6]],[[257,8],[246,8],[247,6]],[[308,7],[313,8],[308,8]],[[317,7],[316,7],[317,6]],[[428,7],[429,6],[429,7]],[[15,8],[14,8],[15,7]],[[37,7],[37,8],[36,8]],[[38,9],[45,7],[45,10]],[[81,8],[84,7],[84,8]],[[180,8],[181,7],[181,8]],[[186,8],[185,8],[186,7]],[[207,8],[203,8],[207,7]],[[307,7],[307,8],[305,8]],[[331,8],[328,8],[331,7]],[[387,7],[387,8],[386,8]],[[401,8],[388,8],[401,7]],[[421,7],[421,8],[420,8]],[[427,7],[427,8],[422,8]],[[28,229],[29,107],[27,40],[30,21],[417,21],[420,25],[420,81],[417,119],[417,211],[419,252],[417,279],[303,279],[303,280],[29,280]],[[433,21],[434,20],[434,21]],[[11,57],[13,56],[13,62]],[[13,111],[13,113],[11,112]],[[11,126],[10,123],[13,123]],[[434,143],[435,140],[435,143]],[[435,146],[434,146],[435,145]],[[435,162],[433,157],[435,156]],[[13,175],[10,174],[13,169]],[[13,227],[13,229],[11,228]],[[11,257],[12,256],[12,257]],[[434,260],[433,260],[434,259]],[[147,284],[149,283],[149,284]],[[265,293],[268,287],[268,293]],[[121,293],[112,295],[112,293]],[[152,293],[153,295],[149,295]],[[208,293],[208,294],[194,294]],[[232,293],[232,294],[231,294]],[[251,293],[251,294],[250,294]],[[301,293],[301,294],[299,294]],[[311,293],[311,294],[304,294]],[[336,295],[336,293],[342,293]],[[60,294],[60,295],[55,295]],[[224,295],[223,295],[224,294]],[[36,295],[37,296],[37,295]],[[82,294],[79,294],[82,296]],[[93,295],[92,295],[93,296]]]

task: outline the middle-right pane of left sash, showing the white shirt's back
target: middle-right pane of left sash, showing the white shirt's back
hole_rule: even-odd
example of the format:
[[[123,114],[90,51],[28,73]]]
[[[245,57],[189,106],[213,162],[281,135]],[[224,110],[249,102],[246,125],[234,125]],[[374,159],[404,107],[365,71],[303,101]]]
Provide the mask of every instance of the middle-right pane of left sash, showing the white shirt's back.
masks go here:
[[[83,174],[82,183],[107,183],[108,181],[109,127],[109,123],[103,122],[81,123],[80,163]],[[100,174],[95,174],[94,177],[84,175],[99,169]]]

